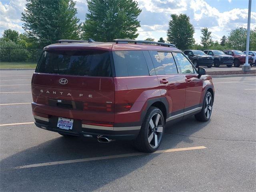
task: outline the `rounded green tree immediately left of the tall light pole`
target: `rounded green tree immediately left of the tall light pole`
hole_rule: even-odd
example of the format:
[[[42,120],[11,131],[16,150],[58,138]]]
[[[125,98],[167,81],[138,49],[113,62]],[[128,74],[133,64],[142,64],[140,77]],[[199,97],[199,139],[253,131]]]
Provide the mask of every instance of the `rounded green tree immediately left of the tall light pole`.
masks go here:
[[[236,28],[230,32],[228,42],[233,49],[244,51],[246,50],[246,28]]]

